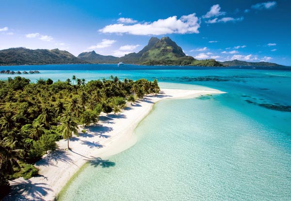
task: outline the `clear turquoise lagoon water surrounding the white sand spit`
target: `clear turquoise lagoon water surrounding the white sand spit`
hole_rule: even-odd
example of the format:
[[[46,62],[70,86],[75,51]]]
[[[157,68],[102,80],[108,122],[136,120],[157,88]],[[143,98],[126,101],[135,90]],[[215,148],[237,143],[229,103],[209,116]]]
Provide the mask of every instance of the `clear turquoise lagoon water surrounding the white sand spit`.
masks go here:
[[[226,92],[155,104],[135,129],[137,143],[87,164],[60,201],[291,200],[291,67],[1,67],[39,70],[21,75],[33,82],[113,75],[157,78],[161,88]]]

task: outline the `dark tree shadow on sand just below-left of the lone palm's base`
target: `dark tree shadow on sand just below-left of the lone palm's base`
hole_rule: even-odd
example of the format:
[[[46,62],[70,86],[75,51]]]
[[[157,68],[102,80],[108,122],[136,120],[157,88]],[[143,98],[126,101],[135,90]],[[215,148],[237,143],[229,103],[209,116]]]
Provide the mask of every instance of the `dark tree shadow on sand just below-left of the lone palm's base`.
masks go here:
[[[55,166],[58,164],[59,161],[65,162],[65,163],[73,163],[72,159],[69,157],[69,153],[65,150],[56,150],[53,152],[50,152],[45,158],[42,160],[36,162],[36,165],[43,165],[43,166]]]

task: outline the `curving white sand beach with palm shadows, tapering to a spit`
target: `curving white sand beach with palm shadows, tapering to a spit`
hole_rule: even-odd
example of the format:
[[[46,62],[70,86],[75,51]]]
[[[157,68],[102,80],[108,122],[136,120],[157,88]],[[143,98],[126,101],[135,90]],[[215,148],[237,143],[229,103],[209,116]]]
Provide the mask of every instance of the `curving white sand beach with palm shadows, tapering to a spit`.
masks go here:
[[[59,149],[43,157],[35,165],[40,169],[37,177],[16,179],[10,184],[12,191],[4,201],[45,200],[53,201],[69,179],[88,160],[104,160],[134,145],[133,135],[137,124],[150,112],[153,104],[168,98],[193,98],[200,95],[224,93],[221,91],[162,89],[157,96],[146,96],[135,104],[128,104],[121,113],[101,114],[95,126],[87,128],[70,140],[57,142]],[[86,128],[85,128],[86,129]]]

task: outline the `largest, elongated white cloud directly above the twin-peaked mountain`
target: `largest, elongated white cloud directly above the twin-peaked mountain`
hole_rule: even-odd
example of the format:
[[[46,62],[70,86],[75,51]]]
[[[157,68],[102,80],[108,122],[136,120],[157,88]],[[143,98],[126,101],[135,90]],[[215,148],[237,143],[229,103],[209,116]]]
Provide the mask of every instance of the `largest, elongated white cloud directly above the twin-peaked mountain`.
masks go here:
[[[200,21],[196,14],[183,15],[179,19],[177,16],[159,19],[151,23],[144,24],[111,24],[99,31],[102,33],[128,33],[133,35],[163,35],[171,33],[199,33]]]

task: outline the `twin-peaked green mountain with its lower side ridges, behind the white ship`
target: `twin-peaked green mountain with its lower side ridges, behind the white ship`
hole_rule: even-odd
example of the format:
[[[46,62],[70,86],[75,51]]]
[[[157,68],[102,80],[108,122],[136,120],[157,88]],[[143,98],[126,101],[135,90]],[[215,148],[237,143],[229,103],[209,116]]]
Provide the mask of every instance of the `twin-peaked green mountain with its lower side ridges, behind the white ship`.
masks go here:
[[[199,66],[223,66],[215,60],[196,60],[185,55],[169,37],[161,39],[152,37],[148,44],[138,53],[129,53],[123,57],[103,56],[95,51],[83,52],[78,56],[86,62],[94,63],[136,63],[142,65],[199,65]]]

